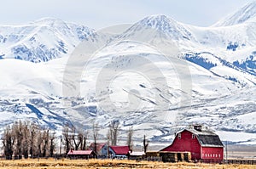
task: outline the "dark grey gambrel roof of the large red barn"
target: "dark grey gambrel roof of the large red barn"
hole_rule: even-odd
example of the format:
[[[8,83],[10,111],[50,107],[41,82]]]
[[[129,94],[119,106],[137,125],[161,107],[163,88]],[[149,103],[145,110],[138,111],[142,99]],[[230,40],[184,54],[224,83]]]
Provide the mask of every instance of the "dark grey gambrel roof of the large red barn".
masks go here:
[[[199,144],[203,147],[224,147],[218,135],[209,130],[184,129],[195,134]],[[183,130],[183,131],[184,131]]]

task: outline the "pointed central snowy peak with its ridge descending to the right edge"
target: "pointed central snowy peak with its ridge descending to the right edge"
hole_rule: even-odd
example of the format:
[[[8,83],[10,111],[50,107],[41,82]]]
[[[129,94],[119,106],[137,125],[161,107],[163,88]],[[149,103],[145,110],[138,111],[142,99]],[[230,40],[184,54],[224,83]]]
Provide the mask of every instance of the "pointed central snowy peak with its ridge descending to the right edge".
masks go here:
[[[178,23],[164,15],[154,15],[132,25],[113,42],[144,42],[167,57],[182,52],[182,59],[201,65],[218,76],[240,83],[241,86],[251,86],[255,84],[253,46],[256,44],[256,27],[250,30],[247,28],[247,25],[199,28]],[[251,54],[239,55],[240,58],[233,56],[236,52],[241,54],[243,51],[250,51]]]

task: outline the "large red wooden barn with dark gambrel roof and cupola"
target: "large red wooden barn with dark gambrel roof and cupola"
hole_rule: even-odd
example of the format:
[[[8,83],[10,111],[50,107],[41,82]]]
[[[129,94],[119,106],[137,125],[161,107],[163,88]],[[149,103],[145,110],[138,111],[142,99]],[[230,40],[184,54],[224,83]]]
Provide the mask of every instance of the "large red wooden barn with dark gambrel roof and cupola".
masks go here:
[[[194,161],[218,162],[224,159],[224,144],[218,135],[202,130],[199,125],[177,132],[173,143],[161,151],[190,152]]]

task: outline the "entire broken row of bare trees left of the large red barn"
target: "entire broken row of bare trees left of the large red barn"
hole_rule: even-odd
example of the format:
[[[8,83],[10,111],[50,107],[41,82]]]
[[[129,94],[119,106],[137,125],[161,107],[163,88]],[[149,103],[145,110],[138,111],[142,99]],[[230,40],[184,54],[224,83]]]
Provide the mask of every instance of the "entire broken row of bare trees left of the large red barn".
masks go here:
[[[108,145],[117,145],[119,137],[119,121],[111,121],[106,135]],[[62,128],[61,140],[58,140],[55,132],[29,121],[17,121],[4,129],[2,142],[3,153],[7,160],[21,159],[28,157],[53,157],[56,153],[67,155],[70,149],[89,149],[88,140],[92,140],[92,150],[97,154],[97,142],[99,137],[99,126],[92,124],[92,128],[80,129],[72,125],[65,125]],[[126,144],[132,149],[133,129],[127,131]],[[61,141],[60,149],[56,149],[56,143]],[[61,152],[63,147],[64,152]],[[148,141],[143,139],[143,150],[146,152]],[[91,147],[90,147],[91,149]],[[60,150],[58,152],[58,150]]]

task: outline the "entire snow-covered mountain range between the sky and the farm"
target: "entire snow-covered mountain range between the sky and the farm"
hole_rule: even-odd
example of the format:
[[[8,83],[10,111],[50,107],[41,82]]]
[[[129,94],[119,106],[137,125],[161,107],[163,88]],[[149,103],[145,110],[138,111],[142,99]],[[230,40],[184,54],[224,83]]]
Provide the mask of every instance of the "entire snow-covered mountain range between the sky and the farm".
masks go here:
[[[209,27],[153,15],[113,36],[55,19],[0,26],[2,127],[98,121],[104,137],[119,120],[122,138],[132,125],[137,140],[170,142],[204,123],[256,144],[255,11],[248,3]]]

